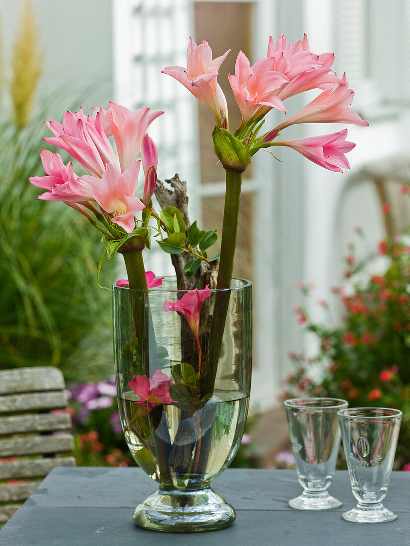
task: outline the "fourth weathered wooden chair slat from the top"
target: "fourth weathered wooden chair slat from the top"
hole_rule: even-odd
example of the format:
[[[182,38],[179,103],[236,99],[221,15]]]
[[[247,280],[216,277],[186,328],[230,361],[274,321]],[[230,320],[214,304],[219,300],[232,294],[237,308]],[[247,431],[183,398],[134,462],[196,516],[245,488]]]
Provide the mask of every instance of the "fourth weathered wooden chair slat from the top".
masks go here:
[[[70,434],[24,436],[0,440],[0,457],[67,453],[73,449],[74,440]]]

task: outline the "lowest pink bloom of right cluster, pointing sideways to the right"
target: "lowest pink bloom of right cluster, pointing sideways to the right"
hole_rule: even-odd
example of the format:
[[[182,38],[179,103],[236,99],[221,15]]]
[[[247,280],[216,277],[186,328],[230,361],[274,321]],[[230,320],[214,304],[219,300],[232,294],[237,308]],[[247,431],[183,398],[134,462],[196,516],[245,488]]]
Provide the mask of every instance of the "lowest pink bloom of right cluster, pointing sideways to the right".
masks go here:
[[[313,163],[325,169],[342,173],[343,169],[349,169],[350,165],[344,156],[355,147],[353,142],[346,140],[347,129],[338,133],[321,136],[310,136],[295,140],[282,140],[275,142],[275,146],[288,146],[310,159]]]

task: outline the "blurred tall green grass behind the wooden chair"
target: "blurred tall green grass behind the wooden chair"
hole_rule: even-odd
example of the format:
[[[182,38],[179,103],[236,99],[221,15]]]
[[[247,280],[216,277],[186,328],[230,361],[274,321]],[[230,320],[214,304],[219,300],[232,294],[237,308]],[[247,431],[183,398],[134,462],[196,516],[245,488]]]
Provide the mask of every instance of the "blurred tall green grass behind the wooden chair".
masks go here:
[[[96,230],[28,182],[44,175],[44,114],[21,129],[0,121],[0,366],[87,379],[112,361],[111,296],[96,286]]]

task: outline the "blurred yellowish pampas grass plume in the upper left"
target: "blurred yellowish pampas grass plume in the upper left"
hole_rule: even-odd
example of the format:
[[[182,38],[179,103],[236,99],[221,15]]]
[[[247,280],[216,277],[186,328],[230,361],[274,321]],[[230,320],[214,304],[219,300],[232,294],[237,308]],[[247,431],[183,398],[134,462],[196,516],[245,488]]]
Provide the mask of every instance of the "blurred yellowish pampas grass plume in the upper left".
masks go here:
[[[39,34],[32,3],[25,0],[11,59],[10,95],[13,120],[17,127],[25,126],[33,110],[41,74]]]

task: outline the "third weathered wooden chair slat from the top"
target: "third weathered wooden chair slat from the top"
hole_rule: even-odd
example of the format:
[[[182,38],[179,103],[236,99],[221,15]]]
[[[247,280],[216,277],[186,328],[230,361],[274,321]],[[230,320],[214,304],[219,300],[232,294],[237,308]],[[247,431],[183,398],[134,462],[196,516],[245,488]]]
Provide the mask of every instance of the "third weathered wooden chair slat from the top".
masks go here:
[[[67,413],[13,415],[0,419],[0,435],[17,434],[18,432],[69,430],[71,428],[71,418]]]

